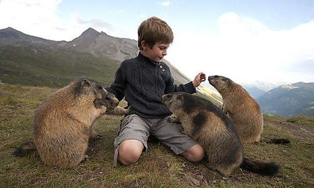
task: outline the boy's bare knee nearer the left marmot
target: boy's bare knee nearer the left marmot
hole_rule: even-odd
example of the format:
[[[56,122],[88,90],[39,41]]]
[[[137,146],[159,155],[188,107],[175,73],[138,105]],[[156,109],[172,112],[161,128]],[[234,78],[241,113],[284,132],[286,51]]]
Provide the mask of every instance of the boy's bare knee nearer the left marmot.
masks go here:
[[[135,163],[142,154],[144,146],[137,140],[127,140],[120,143],[119,161],[124,165]]]

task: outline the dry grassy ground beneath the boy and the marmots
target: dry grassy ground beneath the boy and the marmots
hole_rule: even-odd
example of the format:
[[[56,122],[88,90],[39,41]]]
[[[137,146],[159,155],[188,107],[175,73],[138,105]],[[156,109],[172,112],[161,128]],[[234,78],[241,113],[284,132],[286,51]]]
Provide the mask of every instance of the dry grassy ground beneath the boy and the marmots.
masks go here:
[[[34,154],[24,158],[12,156],[16,146],[33,139],[34,110],[55,90],[47,87],[0,84],[0,187],[314,186],[314,128],[307,125],[308,121],[296,124],[297,121],[288,122],[288,119],[270,116],[265,116],[262,136],[288,138],[291,144],[246,144],[244,150],[246,157],[250,159],[273,161],[281,166],[280,172],[271,178],[241,169],[236,169],[227,178],[222,177],[205,166],[206,160],[190,163],[173,154],[168,147],[156,140],[149,141],[149,149],[142,154],[138,163],[131,166],[119,164],[114,168],[113,141],[122,118],[120,116],[104,116],[97,122],[96,131],[103,135],[103,139],[92,143],[87,151],[89,159],[74,168],[58,169],[47,166]]]

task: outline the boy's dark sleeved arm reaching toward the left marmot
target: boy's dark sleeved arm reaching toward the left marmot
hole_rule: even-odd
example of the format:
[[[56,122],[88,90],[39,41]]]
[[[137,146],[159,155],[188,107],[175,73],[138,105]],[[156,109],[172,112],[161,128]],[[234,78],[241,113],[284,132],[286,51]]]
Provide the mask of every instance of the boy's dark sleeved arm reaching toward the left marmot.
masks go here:
[[[126,90],[125,72],[125,63],[122,62],[115,73],[114,82],[110,87],[105,87],[105,90],[114,94],[119,101],[123,99]]]

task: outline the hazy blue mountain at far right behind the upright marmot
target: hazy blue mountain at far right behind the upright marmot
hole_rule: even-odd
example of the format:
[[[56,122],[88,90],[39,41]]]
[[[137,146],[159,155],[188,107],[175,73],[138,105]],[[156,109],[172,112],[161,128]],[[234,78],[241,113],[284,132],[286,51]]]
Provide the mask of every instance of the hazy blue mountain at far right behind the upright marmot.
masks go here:
[[[262,112],[278,116],[313,116],[314,82],[281,85],[257,99]]]

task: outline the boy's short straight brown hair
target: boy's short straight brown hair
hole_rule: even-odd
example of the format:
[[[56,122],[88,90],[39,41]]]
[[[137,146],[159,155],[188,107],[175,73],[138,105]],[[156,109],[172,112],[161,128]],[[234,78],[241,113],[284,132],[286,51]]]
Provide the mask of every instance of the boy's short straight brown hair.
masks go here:
[[[149,47],[153,47],[157,42],[170,44],[173,42],[173,33],[170,26],[157,17],[151,17],[143,21],[137,30],[138,48],[142,50],[141,42],[145,41]]]

